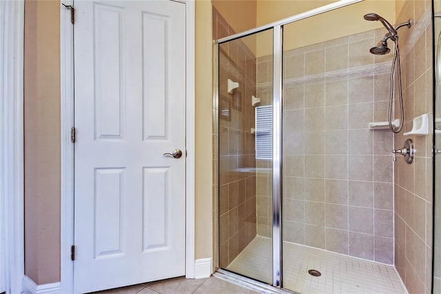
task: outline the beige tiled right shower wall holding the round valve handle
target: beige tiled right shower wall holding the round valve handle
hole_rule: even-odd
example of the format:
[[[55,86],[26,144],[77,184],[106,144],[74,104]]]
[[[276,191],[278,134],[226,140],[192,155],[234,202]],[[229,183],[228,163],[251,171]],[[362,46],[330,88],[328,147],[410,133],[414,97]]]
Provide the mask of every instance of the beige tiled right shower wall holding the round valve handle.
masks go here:
[[[409,30],[400,29],[404,89],[404,131],[412,118],[432,115],[433,107],[433,34],[431,1],[408,0],[397,23],[413,20]],[[407,165],[398,158],[395,165],[395,264],[409,293],[431,293],[432,255],[432,139],[429,136],[395,135],[395,148],[411,138],[416,158]]]

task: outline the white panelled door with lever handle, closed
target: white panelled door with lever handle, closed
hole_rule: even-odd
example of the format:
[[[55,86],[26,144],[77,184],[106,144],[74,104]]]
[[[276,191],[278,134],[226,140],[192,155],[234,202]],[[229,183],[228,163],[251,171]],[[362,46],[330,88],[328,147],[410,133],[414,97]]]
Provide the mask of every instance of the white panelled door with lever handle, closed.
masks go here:
[[[74,290],[185,275],[185,4],[74,6]]]

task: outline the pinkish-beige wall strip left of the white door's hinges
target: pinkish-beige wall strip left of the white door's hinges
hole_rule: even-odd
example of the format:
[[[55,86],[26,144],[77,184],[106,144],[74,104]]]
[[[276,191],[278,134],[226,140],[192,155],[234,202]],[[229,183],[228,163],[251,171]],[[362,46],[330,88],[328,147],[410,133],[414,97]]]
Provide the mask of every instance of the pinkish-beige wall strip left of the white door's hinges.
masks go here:
[[[59,2],[25,1],[25,274],[60,280]]]

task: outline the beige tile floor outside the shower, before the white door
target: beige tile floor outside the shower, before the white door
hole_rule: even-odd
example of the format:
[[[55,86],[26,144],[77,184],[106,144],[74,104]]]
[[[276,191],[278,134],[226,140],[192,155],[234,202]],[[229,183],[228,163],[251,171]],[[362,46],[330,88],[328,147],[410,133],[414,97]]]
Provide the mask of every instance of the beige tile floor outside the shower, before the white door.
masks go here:
[[[96,294],[259,294],[249,288],[220,280],[217,277],[207,279],[174,279],[156,281],[107,291],[94,292]]]

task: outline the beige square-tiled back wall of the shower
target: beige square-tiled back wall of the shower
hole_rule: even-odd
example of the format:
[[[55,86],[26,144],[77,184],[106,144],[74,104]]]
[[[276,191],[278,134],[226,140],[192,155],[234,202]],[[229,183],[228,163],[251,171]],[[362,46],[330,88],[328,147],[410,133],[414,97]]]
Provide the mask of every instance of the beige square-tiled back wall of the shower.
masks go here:
[[[284,52],[283,240],[393,264],[393,135],[368,128],[387,120],[391,56],[369,53],[384,33]],[[258,96],[270,68],[258,58]],[[271,229],[266,182],[259,235]]]

